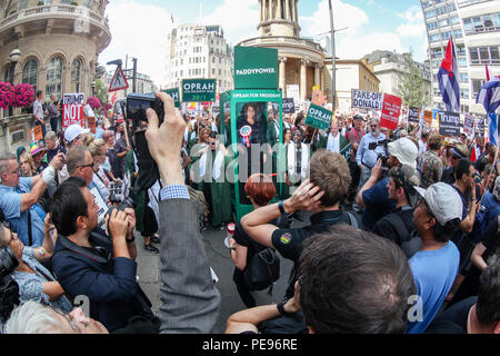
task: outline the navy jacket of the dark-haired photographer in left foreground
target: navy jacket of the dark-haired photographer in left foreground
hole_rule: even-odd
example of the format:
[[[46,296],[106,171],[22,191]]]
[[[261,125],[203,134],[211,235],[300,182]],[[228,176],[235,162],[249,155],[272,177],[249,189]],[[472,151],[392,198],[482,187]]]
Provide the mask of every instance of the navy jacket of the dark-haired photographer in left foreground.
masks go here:
[[[94,248],[81,247],[59,236],[52,258],[53,271],[71,299],[87,296],[90,317],[109,332],[127,325],[132,316],[149,315],[151,303],[136,280],[137,263],[112,257],[112,243],[92,234]]]

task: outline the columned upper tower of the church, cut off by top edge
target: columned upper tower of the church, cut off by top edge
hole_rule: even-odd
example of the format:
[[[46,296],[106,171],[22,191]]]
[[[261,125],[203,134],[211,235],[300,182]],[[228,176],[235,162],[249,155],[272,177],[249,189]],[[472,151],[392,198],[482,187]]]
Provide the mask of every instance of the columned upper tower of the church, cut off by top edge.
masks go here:
[[[300,37],[299,0],[259,0],[261,36]]]

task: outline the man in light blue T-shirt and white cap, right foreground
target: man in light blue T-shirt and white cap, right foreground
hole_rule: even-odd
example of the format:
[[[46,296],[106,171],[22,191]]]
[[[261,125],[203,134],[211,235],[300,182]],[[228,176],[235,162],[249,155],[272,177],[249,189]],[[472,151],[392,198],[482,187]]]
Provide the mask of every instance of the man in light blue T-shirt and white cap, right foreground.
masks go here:
[[[410,259],[418,291],[412,307],[416,313],[409,313],[409,334],[426,332],[453,285],[460,254],[450,237],[462,218],[462,200],[451,186],[437,182],[427,190],[416,189],[421,199],[413,224],[422,248]]]

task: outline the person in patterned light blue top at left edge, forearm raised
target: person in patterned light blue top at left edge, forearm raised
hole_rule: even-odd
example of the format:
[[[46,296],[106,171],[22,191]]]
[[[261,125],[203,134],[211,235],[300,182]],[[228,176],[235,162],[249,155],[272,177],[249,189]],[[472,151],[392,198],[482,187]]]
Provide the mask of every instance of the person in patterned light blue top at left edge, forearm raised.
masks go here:
[[[21,303],[28,300],[41,301],[58,309],[70,312],[71,304],[64,297],[64,290],[52,274],[41,263],[49,260],[53,254],[51,231],[53,226],[50,216],[47,215],[43,225],[43,244],[32,248],[24,246],[8,227],[0,227],[0,248],[7,246],[13,251],[18,266],[12,278],[19,285],[19,298]]]

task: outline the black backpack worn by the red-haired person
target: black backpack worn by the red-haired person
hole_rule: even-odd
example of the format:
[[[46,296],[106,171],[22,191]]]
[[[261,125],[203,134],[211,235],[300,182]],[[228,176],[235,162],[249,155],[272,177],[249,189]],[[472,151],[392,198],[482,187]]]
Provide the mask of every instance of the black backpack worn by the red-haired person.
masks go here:
[[[262,290],[280,278],[280,258],[272,248],[253,255],[243,273],[244,283],[251,290]]]

